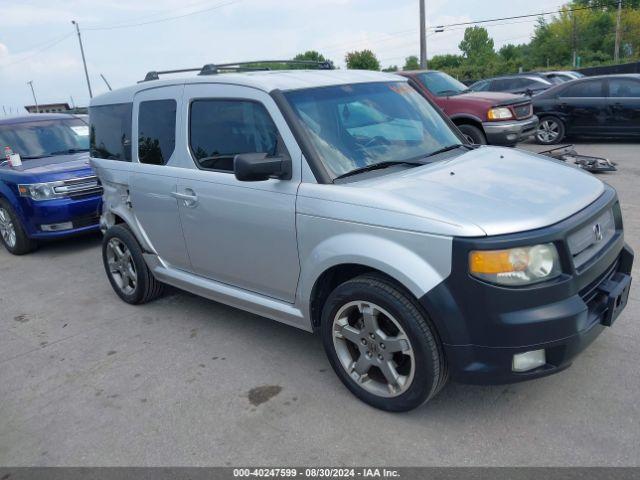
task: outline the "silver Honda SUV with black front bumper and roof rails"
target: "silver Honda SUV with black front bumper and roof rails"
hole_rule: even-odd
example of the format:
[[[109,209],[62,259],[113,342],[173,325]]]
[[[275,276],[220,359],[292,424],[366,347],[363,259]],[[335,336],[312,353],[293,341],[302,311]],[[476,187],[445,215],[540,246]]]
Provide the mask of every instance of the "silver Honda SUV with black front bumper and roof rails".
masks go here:
[[[122,300],[173,285],[317,331],[346,387],[391,411],[449,378],[558,372],[612,325],[633,252],[611,187],[466,143],[406,78],[305,66],[150,72],[93,99]]]

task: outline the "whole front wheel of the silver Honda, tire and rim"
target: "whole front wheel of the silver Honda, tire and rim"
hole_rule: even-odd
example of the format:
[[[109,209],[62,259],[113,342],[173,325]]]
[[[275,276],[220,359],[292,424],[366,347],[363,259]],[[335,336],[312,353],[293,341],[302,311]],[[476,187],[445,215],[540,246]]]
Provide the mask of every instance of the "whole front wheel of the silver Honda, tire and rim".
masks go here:
[[[373,407],[411,410],[446,382],[428,318],[409,293],[381,276],[361,275],[339,285],[324,305],[321,332],[342,383]]]

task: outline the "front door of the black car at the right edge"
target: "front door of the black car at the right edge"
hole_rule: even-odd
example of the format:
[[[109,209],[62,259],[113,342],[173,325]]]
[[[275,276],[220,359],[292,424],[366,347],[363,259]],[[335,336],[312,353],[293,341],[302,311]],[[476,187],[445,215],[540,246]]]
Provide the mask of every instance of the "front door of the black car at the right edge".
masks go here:
[[[603,80],[586,80],[568,84],[558,93],[558,111],[567,133],[594,134],[608,127],[608,99]]]

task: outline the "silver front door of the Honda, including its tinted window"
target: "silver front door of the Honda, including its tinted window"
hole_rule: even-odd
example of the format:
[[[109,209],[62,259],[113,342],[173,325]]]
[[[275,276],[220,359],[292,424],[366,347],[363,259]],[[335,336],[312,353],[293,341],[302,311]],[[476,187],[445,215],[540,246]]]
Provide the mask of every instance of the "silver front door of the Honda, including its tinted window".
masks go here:
[[[293,303],[301,152],[282,115],[269,95],[251,88],[187,85],[184,94],[192,168],[181,169],[178,195],[194,272]],[[254,152],[289,155],[293,178],[238,181],[234,156]]]

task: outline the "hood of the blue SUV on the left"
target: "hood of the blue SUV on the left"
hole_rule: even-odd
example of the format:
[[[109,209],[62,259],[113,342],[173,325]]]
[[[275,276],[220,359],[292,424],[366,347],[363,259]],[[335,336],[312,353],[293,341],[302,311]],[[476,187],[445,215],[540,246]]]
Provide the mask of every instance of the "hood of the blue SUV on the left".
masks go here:
[[[42,178],[42,181],[55,181],[83,176],[92,170],[89,165],[88,152],[23,160],[20,167],[4,166],[2,168],[17,174],[22,173],[31,177]]]

